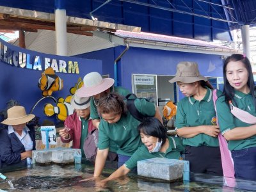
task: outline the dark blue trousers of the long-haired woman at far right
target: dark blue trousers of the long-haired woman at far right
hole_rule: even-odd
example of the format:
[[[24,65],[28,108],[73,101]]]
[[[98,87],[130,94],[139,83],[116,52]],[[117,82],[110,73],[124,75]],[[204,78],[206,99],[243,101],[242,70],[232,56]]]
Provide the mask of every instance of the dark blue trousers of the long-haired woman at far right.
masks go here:
[[[256,147],[232,150],[237,179],[256,180]]]

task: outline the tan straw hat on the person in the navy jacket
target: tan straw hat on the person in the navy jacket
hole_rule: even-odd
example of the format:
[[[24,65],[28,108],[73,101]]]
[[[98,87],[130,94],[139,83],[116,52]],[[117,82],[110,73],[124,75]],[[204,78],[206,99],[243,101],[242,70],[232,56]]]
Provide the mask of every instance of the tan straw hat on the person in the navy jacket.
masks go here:
[[[26,110],[22,106],[13,106],[7,110],[7,118],[2,122],[5,125],[26,124],[35,117],[33,114],[26,114]]]

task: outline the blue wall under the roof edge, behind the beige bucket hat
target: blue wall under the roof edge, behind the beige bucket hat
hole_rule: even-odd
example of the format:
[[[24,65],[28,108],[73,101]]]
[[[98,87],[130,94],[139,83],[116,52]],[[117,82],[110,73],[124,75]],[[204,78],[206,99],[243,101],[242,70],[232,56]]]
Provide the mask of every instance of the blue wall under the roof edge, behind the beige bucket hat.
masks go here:
[[[131,88],[132,73],[174,76],[180,61],[195,61],[203,76],[222,76],[223,60],[218,55],[131,47],[120,64],[122,86]]]

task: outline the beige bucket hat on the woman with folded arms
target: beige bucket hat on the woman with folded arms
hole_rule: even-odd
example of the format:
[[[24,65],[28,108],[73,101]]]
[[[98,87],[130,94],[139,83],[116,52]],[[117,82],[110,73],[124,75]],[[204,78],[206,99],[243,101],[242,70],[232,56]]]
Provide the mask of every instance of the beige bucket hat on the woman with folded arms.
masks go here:
[[[200,75],[198,65],[195,62],[182,61],[177,65],[177,72],[170,83],[174,82],[194,83],[196,81],[207,81],[207,78]]]

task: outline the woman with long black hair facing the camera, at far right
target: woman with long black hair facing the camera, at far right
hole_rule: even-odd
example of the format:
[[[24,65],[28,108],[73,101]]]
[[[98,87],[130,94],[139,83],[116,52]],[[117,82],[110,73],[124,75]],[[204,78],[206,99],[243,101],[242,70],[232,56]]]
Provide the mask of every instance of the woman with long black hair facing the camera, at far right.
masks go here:
[[[235,177],[256,180],[256,125],[232,115],[229,104],[231,101],[236,108],[256,116],[255,85],[248,58],[243,54],[229,56],[223,65],[223,77],[223,96],[216,102],[221,134],[232,153]]]

